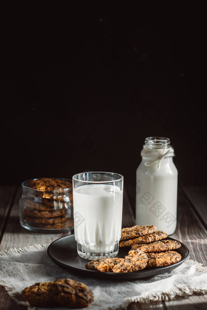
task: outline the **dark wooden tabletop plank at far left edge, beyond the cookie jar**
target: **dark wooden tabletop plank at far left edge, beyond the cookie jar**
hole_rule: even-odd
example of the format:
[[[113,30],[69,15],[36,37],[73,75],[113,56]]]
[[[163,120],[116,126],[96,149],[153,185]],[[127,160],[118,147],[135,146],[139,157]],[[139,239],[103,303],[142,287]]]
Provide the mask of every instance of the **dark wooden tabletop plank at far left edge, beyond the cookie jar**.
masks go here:
[[[11,210],[16,186],[0,186],[0,242]]]

